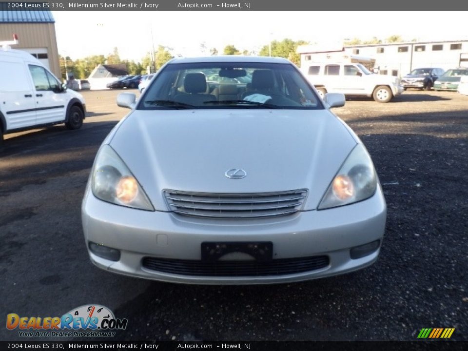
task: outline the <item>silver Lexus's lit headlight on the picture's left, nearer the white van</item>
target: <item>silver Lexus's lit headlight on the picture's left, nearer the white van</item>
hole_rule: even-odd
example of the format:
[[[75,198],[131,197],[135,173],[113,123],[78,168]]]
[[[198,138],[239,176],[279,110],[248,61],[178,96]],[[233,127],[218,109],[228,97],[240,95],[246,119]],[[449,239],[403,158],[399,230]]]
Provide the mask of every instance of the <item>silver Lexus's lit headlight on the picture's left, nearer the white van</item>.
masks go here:
[[[104,145],[92,170],[93,194],[106,202],[154,211],[148,196],[128,167],[109,145]]]

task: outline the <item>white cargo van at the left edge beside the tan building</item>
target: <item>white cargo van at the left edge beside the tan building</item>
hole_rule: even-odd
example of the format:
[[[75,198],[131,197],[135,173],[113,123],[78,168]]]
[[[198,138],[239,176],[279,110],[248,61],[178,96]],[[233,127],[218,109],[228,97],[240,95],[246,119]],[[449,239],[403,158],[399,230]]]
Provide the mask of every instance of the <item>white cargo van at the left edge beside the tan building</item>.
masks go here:
[[[81,94],[67,90],[38,59],[0,42],[0,143],[3,134],[24,129],[58,123],[79,129],[85,106]]]

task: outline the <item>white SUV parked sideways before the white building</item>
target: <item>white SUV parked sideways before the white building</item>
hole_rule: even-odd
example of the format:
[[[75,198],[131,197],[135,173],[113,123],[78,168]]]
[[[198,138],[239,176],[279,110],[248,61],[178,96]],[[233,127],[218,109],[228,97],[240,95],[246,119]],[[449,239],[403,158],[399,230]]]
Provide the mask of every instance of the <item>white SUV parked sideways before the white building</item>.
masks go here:
[[[404,90],[399,78],[373,74],[361,63],[311,62],[301,70],[322,98],[325,93],[342,93],[389,102]]]

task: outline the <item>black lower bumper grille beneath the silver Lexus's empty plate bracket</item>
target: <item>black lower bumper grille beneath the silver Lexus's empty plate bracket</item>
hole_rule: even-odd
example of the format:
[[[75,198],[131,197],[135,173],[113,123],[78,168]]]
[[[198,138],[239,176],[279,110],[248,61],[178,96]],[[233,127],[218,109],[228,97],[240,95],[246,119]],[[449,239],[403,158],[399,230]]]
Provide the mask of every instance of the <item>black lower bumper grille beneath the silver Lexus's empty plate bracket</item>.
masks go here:
[[[170,258],[144,257],[142,265],[152,271],[195,276],[272,276],[304,273],[330,264],[326,255],[274,259],[268,262],[232,260],[203,262]]]

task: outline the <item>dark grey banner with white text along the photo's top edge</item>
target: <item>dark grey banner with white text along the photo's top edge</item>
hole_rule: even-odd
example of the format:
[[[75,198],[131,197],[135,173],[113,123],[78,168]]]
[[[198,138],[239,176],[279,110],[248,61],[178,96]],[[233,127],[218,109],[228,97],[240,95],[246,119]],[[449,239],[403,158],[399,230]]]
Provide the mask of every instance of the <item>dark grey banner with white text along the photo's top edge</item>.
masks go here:
[[[467,10],[468,1],[458,0],[355,0],[355,1],[304,1],[304,0],[45,0],[45,1],[0,1],[1,11],[366,11],[366,10]],[[350,13],[352,16],[352,12]],[[311,17],[313,25],[313,17]],[[333,23],[336,26],[339,23]],[[383,24],[384,25],[384,24]],[[392,21],[388,26],[400,27],[403,24]],[[403,29],[403,28],[402,28]]]

